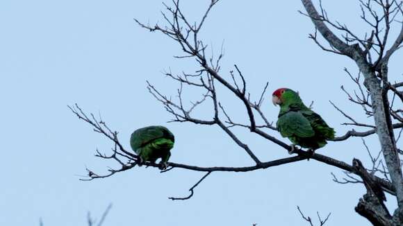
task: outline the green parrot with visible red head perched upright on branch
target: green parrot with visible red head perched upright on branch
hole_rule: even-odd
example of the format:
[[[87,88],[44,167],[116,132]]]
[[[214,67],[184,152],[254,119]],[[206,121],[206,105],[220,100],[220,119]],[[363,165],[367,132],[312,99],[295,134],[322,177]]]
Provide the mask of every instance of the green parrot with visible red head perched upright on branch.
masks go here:
[[[282,137],[288,137],[293,145],[309,148],[314,152],[327,144],[326,140],[334,139],[334,129],[309,107],[302,103],[299,94],[292,89],[280,88],[273,92],[273,104],[280,105],[277,129]]]

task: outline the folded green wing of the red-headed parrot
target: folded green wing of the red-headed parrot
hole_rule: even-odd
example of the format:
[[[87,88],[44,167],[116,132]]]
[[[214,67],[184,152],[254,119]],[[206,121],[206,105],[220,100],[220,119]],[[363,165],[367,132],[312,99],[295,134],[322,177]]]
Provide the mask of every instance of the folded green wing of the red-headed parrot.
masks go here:
[[[313,137],[315,131],[301,112],[286,112],[279,117],[277,128],[283,137]]]

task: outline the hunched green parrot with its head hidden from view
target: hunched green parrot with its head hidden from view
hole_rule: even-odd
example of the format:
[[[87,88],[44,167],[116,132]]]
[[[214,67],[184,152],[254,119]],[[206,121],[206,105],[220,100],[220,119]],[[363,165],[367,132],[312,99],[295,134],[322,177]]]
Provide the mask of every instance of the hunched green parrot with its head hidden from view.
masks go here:
[[[138,155],[138,164],[156,162],[161,158],[160,169],[167,168],[170,150],[174,147],[175,137],[170,130],[161,125],[152,125],[135,130],[131,134],[131,149]]]

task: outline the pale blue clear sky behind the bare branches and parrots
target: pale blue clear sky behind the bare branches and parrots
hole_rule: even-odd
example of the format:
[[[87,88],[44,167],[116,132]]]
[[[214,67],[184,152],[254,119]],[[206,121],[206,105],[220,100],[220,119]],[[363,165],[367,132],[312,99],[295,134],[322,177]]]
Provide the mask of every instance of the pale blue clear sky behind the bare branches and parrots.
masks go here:
[[[190,20],[199,19],[208,1],[183,1]],[[355,1],[324,1],[328,15],[356,31],[366,31]],[[108,162],[94,150],[108,151],[104,137],[69,112],[79,103],[101,115],[129,148],[129,135],[145,125],[165,125],[176,136],[171,160],[199,166],[249,166],[252,161],[217,127],[166,123],[171,119],[145,88],[150,80],[165,94],[175,96],[176,84],[161,71],[192,72],[192,60],[178,60],[181,49],[161,34],[139,28],[133,17],[162,22],[161,1],[8,1],[0,3],[0,225],[85,225],[87,211],[100,216],[113,202],[106,225],[305,225],[296,206],[315,217],[332,215],[327,225],[368,225],[354,212],[363,195],[361,185],[340,185],[330,172],[340,170],[309,161],[249,173],[212,173],[193,198],[173,202],[167,197],[188,195],[202,173],[174,169],[133,168],[113,177],[81,182],[85,166],[102,172]],[[340,85],[349,82],[343,67],[354,63],[321,51],[309,40],[311,21],[300,15],[300,1],[222,0],[206,20],[201,37],[220,49],[224,40],[222,73],[229,76],[238,64],[249,90],[258,98],[266,81],[269,92],[263,110],[276,121],[278,108],[270,94],[278,87],[300,92],[306,103],[338,135],[348,128],[329,100],[358,119],[368,121],[351,106]],[[360,33],[362,34],[362,33]],[[402,51],[390,60],[390,78],[402,78]],[[197,90],[186,90],[189,100]],[[235,119],[245,120],[239,101],[227,92],[222,103]],[[240,106],[240,107],[239,107]],[[211,115],[208,107],[199,114]],[[371,119],[369,119],[371,121]],[[262,161],[288,157],[285,150],[234,130],[248,141]],[[280,138],[279,134],[270,132]],[[282,139],[289,143],[288,140]],[[368,139],[378,151],[376,137]],[[360,139],[330,143],[318,150],[351,163],[367,160]],[[389,198],[388,204],[393,204]]]

